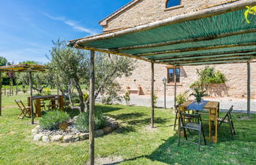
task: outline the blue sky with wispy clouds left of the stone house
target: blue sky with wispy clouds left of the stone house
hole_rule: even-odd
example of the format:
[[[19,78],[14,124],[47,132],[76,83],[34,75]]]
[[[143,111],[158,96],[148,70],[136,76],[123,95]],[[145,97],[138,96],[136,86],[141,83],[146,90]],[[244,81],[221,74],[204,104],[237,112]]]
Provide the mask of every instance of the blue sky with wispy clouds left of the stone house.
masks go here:
[[[102,32],[100,20],[130,0],[0,0],[0,56],[47,62],[52,40]]]

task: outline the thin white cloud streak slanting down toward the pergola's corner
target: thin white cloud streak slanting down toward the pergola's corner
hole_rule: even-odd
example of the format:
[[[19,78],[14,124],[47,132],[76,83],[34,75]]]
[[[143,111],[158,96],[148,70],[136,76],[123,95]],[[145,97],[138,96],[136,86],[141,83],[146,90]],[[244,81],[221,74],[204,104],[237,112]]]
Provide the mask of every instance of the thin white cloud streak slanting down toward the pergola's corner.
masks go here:
[[[69,25],[70,27],[73,27],[73,29],[77,30],[77,31],[83,31],[83,32],[86,32],[88,33],[89,35],[96,35],[97,32],[92,30],[92,29],[89,29],[89,28],[86,28],[86,27],[81,27],[77,24],[76,21],[73,21],[73,20],[68,20],[66,19],[64,16],[51,16],[50,14],[48,13],[43,13],[44,16],[47,16],[48,18],[50,18],[51,20],[60,20],[62,21],[64,24],[67,24]]]

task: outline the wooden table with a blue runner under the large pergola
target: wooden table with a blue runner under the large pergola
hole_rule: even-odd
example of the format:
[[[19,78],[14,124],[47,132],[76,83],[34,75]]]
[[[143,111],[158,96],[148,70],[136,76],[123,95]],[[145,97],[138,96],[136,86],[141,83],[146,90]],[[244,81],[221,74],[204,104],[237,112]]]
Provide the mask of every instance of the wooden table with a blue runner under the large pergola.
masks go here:
[[[190,110],[187,108],[188,105],[190,105],[193,100],[186,101],[182,105],[179,105],[179,111],[186,112],[187,110]],[[217,142],[218,138],[218,116],[219,116],[219,109],[220,109],[220,102],[217,101],[208,101],[206,105],[204,106],[204,110],[209,111],[209,141],[212,141],[214,143]],[[197,109],[193,109],[197,110]],[[214,136],[212,137],[211,130],[212,130],[212,123],[214,123],[213,126],[215,126]]]

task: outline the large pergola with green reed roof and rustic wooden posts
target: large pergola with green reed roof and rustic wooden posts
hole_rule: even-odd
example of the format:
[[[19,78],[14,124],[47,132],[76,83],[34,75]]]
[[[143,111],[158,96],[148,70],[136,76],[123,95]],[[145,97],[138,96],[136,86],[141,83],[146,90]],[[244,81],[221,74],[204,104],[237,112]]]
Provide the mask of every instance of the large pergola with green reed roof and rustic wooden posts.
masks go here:
[[[166,20],[70,41],[69,46],[91,50],[90,163],[94,163],[95,51],[150,62],[152,66],[151,100],[154,92],[154,64],[168,64],[176,67],[247,63],[247,112],[249,114],[250,62],[256,56],[256,21],[254,16],[250,16],[250,24],[247,24],[244,12],[246,6],[255,5],[256,0],[232,0],[192,13],[172,16]],[[153,101],[151,102],[153,127],[154,107]]]

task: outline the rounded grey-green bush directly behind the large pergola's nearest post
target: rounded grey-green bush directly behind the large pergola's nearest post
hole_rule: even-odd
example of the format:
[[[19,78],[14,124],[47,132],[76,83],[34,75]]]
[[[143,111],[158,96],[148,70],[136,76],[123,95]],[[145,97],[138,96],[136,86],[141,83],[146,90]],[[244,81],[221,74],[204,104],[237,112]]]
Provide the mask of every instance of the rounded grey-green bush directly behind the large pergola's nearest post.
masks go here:
[[[103,128],[107,125],[107,119],[103,116],[100,110],[95,111],[95,130]],[[77,130],[81,132],[88,132],[89,126],[89,112],[79,114],[76,121]]]

